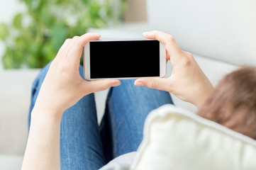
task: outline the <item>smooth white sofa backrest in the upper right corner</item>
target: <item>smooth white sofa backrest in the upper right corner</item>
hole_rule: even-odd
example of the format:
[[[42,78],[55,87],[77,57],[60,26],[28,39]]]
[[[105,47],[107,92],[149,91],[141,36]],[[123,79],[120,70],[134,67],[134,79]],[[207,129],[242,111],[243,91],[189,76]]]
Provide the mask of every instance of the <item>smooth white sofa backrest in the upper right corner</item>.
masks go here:
[[[148,22],[182,49],[236,65],[256,66],[255,0],[147,0]]]

